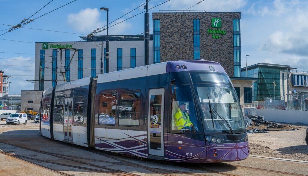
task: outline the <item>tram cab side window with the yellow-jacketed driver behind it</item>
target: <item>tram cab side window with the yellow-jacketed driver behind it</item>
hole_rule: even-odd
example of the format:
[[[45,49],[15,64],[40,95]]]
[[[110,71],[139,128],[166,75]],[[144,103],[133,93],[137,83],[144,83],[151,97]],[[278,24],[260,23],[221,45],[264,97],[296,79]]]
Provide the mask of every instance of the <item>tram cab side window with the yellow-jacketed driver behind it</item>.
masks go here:
[[[179,132],[198,132],[198,120],[190,85],[173,85],[171,129]]]

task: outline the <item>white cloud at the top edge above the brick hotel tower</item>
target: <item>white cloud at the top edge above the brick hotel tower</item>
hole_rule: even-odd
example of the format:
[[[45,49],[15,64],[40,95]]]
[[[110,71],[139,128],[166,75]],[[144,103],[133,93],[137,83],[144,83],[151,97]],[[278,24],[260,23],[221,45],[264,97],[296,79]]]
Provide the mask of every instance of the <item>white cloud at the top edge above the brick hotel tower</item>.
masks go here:
[[[176,0],[169,1],[161,10],[186,10],[188,7],[195,5],[200,0]],[[189,10],[206,10],[209,12],[233,12],[241,9],[247,3],[247,0],[205,0]]]

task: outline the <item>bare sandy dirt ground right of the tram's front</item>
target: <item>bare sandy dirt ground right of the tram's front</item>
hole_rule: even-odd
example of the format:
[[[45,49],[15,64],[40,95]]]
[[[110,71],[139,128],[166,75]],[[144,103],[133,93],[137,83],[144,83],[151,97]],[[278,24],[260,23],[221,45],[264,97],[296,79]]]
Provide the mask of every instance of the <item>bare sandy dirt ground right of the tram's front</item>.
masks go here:
[[[250,154],[308,161],[307,126],[293,126],[299,130],[248,134]]]

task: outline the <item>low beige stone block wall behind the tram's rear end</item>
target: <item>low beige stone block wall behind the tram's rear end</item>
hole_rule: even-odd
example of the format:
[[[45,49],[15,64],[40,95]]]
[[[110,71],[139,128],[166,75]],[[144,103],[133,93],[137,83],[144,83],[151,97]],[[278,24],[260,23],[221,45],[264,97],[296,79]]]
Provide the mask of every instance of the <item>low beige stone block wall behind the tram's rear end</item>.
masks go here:
[[[24,111],[26,107],[33,108],[32,111],[39,112],[39,106],[41,104],[43,91],[21,91],[21,111]],[[33,103],[28,103],[28,101],[33,101]]]

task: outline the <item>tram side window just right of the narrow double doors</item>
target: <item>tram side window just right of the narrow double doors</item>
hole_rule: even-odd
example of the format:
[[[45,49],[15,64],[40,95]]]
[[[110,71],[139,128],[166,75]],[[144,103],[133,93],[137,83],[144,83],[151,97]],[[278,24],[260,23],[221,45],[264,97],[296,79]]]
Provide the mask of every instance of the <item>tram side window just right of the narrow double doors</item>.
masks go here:
[[[75,98],[74,106],[74,123],[83,123],[87,121],[87,116],[84,114],[84,96]]]

